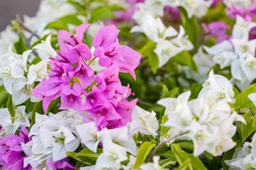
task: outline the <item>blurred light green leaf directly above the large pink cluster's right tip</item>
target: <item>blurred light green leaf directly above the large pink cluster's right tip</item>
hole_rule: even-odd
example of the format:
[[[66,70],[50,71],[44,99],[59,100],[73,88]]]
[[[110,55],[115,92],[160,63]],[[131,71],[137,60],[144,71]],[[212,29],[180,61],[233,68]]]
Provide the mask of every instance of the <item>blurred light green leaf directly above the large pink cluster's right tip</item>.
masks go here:
[[[95,10],[91,13],[90,23],[94,23],[97,20],[105,20],[107,18],[116,18],[117,16],[114,14],[114,9],[116,6],[99,6],[95,8]]]

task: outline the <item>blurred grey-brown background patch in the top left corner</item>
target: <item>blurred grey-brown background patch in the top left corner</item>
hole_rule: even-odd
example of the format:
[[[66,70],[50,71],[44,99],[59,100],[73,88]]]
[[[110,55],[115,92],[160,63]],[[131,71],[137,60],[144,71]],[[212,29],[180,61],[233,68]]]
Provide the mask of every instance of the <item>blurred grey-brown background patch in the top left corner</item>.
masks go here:
[[[16,13],[23,16],[34,16],[38,11],[40,0],[0,0],[0,31],[4,30]]]

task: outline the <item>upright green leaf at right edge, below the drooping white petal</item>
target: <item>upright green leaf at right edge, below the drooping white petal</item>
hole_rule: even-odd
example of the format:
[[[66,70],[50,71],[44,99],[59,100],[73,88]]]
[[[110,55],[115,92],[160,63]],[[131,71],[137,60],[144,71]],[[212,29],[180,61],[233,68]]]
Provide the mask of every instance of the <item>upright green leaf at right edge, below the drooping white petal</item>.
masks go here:
[[[255,117],[252,115],[252,113],[245,113],[243,118],[245,118],[245,121],[247,123],[247,125],[245,125],[245,123],[242,123],[242,142],[245,142],[247,137],[250,137],[250,135],[252,135],[252,133],[256,131],[256,126],[253,127],[253,119],[255,119]]]

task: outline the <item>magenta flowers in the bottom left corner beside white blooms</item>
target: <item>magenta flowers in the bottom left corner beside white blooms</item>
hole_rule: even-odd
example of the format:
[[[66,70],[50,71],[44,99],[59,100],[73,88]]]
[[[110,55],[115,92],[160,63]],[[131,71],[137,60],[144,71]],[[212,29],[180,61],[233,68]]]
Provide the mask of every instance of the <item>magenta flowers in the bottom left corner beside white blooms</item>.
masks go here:
[[[2,170],[29,170],[31,166],[28,165],[23,168],[24,156],[21,143],[27,143],[31,140],[28,137],[28,130],[26,130],[25,125],[21,127],[18,135],[9,135],[0,140],[0,168]]]

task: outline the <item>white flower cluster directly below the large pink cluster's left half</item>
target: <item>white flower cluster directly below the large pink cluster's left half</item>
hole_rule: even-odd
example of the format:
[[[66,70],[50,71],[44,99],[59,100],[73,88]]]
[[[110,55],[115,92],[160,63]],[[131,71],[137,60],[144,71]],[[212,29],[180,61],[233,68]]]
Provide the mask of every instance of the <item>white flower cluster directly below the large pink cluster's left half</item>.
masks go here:
[[[79,121],[80,120],[80,121]],[[74,135],[73,126],[82,122],[82,116],[70,111],[62,111],[56,115],[36,114],[36,124],[29,132],[33,136],[28,143],[21,144],[28,155],[24,166],[31,164],[33,169],[50,169],[46,162],[59,161],[67,157],[65,152],[73,152],[80,144]]]

